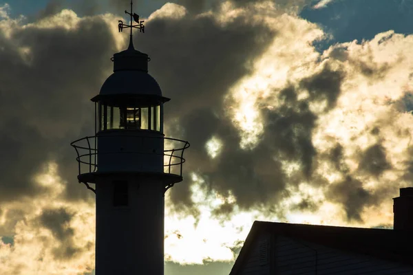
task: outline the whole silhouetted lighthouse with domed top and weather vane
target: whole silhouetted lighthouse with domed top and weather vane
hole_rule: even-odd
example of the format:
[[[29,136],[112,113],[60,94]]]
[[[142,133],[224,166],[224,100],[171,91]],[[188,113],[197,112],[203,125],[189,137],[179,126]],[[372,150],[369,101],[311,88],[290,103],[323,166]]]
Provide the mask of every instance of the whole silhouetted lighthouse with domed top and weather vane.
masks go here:
[[[78,181],[96,193],[96,274],[164,274],[165,192],[182,181],[189,143],[163,134],[162,96],[148,74],[147,54],[134,49],[131,11],[127,50],[114,54],[114,73],[95,103],[95,135],[72,142]],[[134,25],[134,21],[137,25]],[[165,146],[165,148],[164,148]],[[94,184],[95,188],[89,186]]]

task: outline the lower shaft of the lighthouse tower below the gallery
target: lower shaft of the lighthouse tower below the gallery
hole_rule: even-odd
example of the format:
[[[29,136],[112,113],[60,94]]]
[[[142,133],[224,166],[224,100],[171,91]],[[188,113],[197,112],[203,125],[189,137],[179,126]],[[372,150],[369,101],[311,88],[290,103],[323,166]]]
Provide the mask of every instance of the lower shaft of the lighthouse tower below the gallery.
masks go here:
[[[127,181],[128,206],[114,206]],[[124,173],[96,179],[96,274],[164,274],[165,184]]]

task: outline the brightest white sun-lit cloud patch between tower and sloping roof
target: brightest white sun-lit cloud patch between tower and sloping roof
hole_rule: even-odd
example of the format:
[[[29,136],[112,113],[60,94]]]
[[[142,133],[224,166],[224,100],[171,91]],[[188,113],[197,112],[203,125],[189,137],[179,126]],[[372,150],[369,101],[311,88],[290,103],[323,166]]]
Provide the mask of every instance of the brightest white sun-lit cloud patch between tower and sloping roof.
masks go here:
[[[222,198],[218,194],[211,196],[201,188],[204,181],[197,175],[192,175],[197,184],[192,186],[192,199],[200,210],[198,221],[193,217],[182,219],[178,214],[165,214],[165,254],[170,261],[181,264],[202,264],[203,261],[233,261],[231,248],[240,239],[245,238],[251,228],[253,217],[248,213],[240,213],[231,221],[220,223],[212,217],[211,212],[225,201],[233,202],[234,198]],[[166,200],[168,205],[168,199]],[[197,249],[193,249],[193,248]],[[191,251],[191,253],[188,253]]]

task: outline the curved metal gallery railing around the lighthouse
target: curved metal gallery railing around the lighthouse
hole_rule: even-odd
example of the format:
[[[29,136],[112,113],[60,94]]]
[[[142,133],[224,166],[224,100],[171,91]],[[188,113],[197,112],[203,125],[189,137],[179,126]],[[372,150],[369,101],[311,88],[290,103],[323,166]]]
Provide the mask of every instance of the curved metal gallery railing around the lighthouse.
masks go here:
[[[182,164],[184,164],[184,150],[189,148],[190,144],[184,140],[178,140],[171,137],[151,137],[146,135],[100,135],[99,138],[106,137],[127,137],[127,138],[140,138],[140,139],[162,139],[167,140],[169,143],[182,144],[178,148],[167,148],[162,153],[147,153],[140,151],[114,151],[114,152],[100,152],[98,150],[97,136],[88,136],[71,142],[70,145],[76,150],[78,162],[78,175],[85,173],[95,173],[98,169],[98,155],[99,154],[145,154],[145,155],[163,155],[164,157],[164,173],[171,174],[171,167],[179,167],[179,175],[182,177]],[[94,144],[94,146],[91,146]],[[165,146],[165,142],[164,142]],[[172,146],[173,147],[173,146]],[[167,172],[165,172],[167,170]]]

